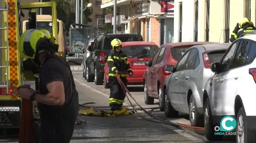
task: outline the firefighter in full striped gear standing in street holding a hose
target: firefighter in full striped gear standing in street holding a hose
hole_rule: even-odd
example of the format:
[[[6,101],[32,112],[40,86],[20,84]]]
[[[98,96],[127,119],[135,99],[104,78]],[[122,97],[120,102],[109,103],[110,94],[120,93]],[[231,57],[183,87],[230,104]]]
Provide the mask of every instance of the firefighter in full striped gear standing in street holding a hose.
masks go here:
[[[109,85],[110,85],[110,98],[109,104],[111,110],[122,110],[122,106],[126,97],[126,93],[122,90],[122,87],[117,81],[116,72],[128,72],[130,76],[133,72],[130,68],[127,55],[122,52],[122,42],[119,39],[111,41],[112,51],[107,57],[107,64],[109,65]],[[127,86],[127,74],[118,74]]]

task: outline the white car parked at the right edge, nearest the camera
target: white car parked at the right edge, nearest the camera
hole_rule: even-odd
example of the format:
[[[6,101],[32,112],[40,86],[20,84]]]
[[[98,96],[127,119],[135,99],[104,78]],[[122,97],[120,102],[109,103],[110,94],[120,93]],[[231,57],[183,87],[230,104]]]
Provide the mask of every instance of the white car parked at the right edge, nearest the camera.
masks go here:
[[[214,135],[214,127],[228,115],[236,119],[236,128],[227,130],[236,132],[236,142],[255,142],[256,31],[245,34],[250,33],[254,34],[238,38],[220,62],[210,65],[215,75],[207,82],[203,98],[208,140],[222,138]]]

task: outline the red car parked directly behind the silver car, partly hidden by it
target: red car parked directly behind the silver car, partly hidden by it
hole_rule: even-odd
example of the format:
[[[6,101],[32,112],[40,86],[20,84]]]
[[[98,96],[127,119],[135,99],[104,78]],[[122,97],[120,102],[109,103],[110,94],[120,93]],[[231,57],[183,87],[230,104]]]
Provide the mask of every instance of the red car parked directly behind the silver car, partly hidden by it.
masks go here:
[[[159,107],[163,111],[165,100],[159,97],[164,91],[164,82],[170,75],[170,72],[165,71],[166,66],[176,66],[191,46],[211,43],[213,42],[178,42],[161,45],[152,61],[145,63],[148,66],[143,76],[145,104],[154,104],[154,99],[159,99]]]

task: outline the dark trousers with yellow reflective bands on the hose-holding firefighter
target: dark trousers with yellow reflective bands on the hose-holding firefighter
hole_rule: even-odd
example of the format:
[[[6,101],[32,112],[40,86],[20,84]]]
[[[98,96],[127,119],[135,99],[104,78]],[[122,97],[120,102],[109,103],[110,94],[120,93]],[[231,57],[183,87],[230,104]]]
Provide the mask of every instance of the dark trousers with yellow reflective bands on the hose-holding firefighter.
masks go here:
[[[124,85],[127,87],[126,77],[120,77]],[[109,86],[110,86],[110,98],[109,104],[122,106],[126,97],[126,93],[120,86],[116,77],[109,76]]]

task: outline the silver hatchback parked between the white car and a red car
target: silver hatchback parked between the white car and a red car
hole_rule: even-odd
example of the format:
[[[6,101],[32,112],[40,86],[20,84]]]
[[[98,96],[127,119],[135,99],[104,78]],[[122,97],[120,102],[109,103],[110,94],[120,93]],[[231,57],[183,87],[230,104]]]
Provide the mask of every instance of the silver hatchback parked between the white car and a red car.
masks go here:
[[[177,117],[179,112],[189,114],[193,126],[203,126],[203,91],[208,79],[214,75],[210,63],[220,62],[231,43],[213,43],[190,47],[164,84],[165,115]]]

